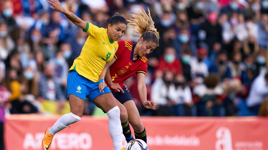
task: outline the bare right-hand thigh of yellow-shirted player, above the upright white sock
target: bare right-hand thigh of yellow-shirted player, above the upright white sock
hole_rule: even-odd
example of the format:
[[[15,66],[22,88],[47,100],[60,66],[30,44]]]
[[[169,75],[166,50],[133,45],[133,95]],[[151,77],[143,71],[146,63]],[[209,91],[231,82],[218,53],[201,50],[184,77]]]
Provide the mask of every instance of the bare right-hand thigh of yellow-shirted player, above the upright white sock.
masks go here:
[[[105,93],[94,98],[93,102],[95,105],[107,113],[110,109],[114,108],[116,105],[116,100],[112,93]]]

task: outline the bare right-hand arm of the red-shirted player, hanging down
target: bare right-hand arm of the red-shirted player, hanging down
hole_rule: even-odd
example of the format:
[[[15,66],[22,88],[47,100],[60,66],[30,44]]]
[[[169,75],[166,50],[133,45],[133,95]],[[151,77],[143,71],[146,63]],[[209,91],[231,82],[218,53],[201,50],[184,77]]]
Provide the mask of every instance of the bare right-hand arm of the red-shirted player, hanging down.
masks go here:
[[[145,74],[138,73],[138,93],[141,99],[141,102],[145,108],[155,109],[155,102],[147,100],[147,88],[145,85]]]

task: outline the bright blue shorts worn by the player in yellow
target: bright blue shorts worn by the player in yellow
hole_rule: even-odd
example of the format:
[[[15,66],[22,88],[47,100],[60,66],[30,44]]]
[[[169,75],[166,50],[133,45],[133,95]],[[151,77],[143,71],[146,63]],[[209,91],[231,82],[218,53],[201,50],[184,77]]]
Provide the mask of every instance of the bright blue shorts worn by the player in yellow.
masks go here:
[[[93,82],[74,70],[68,74],[67,90],[68,99],[69,95],[73,94],[83,100],[87,97],[92,101],[99,95],[111,92],[108,87],[103,89],[104,92],[99,92],[99,82]]]

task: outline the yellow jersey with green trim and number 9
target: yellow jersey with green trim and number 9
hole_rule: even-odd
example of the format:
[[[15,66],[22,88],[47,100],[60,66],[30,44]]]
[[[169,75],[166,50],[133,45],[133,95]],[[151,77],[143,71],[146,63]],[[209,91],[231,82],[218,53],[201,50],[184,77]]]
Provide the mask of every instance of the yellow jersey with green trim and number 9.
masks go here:
[[[107,29],[99,28],[89,22],[83,32],[88,33],[89,36],[69,71],[75,70],[81,76],[98,82],[105,64],[113,59],[118,43],[117,41],[111,42]]]

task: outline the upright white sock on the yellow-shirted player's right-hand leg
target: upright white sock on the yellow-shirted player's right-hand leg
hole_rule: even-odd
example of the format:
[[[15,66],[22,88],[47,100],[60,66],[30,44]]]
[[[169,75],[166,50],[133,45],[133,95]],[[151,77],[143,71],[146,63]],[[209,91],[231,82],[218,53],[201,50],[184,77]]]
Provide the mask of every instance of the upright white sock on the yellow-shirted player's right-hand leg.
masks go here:
[[[107,112],[109,116],[109,133],[113,140],[113,147],[115,150],[121,150],[123,148],[122,145],[122,126],[120,121],[120,110],[118,106],[110,109]]]

